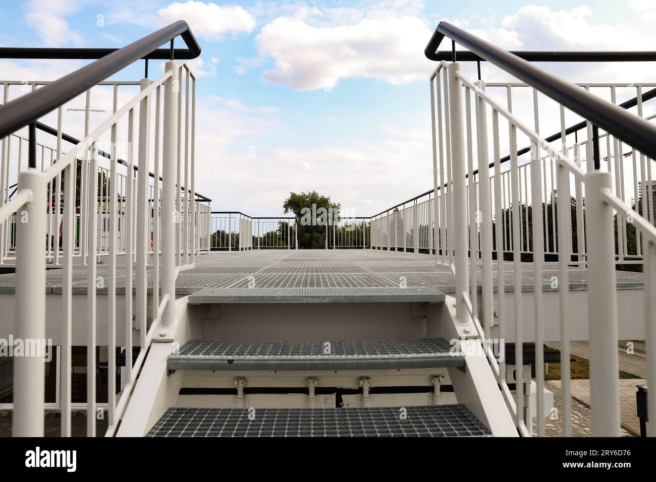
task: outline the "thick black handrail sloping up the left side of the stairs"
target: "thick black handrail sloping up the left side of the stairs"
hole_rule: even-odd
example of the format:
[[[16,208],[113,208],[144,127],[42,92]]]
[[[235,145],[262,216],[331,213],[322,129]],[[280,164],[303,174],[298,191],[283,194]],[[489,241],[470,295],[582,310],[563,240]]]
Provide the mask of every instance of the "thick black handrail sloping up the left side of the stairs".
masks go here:
[[[159,46],[173,41],[178,35],[184,39],[192,55],[191,58],[200,55],[201,48],[187,22],[178,20],[123,47],[123,49],[113,50],[108,55],[41,87],[41,89],[33,90],[29,94],[7,102],[0,108],[0,138],[33,123],[39,117],[91,89],[110,75],[155,52]],[[164,50],[170,52],[169,49]]]

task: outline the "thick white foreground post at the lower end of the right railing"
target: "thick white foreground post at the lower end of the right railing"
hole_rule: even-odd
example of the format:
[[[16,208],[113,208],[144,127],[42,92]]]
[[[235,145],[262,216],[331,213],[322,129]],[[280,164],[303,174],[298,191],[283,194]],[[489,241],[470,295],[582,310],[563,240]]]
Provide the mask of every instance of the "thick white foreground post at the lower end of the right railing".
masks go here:
[[[585,184],[592,436],[619,437],[614,220],[613,208],[602,199],[602,191],[611,191],[611,174],[588,172]]]

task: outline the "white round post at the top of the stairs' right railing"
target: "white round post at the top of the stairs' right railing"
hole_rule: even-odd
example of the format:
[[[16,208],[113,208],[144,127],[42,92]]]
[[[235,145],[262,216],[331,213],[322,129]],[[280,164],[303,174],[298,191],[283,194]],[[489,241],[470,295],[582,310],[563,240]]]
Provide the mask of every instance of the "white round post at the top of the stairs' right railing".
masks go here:
[[[451,126],[451,163],[453,171],[453,251],[455,251],[456,318],[468,323],[468,310],[462,293],[468,291],[469,268],[467,264],[467,195],[464,183],[466,153],[462,129],[462,85],[457,77],[460,64],[449,65],[449,125]]]

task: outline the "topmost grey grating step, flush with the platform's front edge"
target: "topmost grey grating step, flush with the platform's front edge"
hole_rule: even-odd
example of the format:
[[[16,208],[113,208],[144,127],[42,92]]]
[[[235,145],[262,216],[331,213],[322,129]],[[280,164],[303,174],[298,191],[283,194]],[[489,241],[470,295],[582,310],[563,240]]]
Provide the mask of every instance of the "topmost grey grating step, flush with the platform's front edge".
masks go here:
[[[444,299],[435,287],[234,287],[197,291],[189,296],[189,303],[441,303]]]

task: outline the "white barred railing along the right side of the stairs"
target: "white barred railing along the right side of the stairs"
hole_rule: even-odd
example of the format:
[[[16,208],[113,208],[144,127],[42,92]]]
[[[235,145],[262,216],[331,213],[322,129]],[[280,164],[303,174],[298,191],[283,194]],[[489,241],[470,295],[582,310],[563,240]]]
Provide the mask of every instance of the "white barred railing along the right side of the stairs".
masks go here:
[[[566,109],[558,105],[562,138],[557,142],[547,142],[539,134],[542,119],[536,90],[531,89],[534,125],[531,129],[510,110],[510,97],[506,106],[503,106],[487,92],[485,83],[469,81],[459,69],[458,63],[441,62],[430,77],[436,193],[433,199],[436,238],[434,256],[437,262],[452,266],[455,272],[457,322],[462,325],[472,323],[480,338],[489,340],[493,338],[492,325],[496,311],[499,327],[494,331],[498,333],[494,338],[499,342],[501,353],[497,361],[488,346],[488,359],[518,431],[522,435],[531,435],[530,412],[525,407],[525,380],[523,383],[518,382],[512,393],[506,376],[502,352],[506,335],[506,313],[510,311],[506,306],[506,298],[512,296],[512,311],[522,313],[525,296],[522,294],[521,273],[523,268],[531,266],[536,280],[532,294],[535,334],[526,336],[523,333],[523,323],[514,323],[515,366],[522,367],[522,343],[530,341],[535,342],[536,347],[543,346],[545,287],[541,280],[545,262],[557,261],[563,400],[559,418],[562,420],[563,435],[569,436],[571,398],[568,327],[572,313],[567,287],[569,268],[584,262],[588,268],[592,434],[619,435],[615,264],[626,264],[627,258],[631,256],[626,251],[627,227],[639,233],[640,241],[636,243],[637,249],[632,261],[640,263],[644,273],[647,378],[649,386],[656,386],[656,357],[651,351],[656,341],[656,228],[623,200],[626,198],[623,180],[626,170],[623,171],[625,165],[621,161],[625,150],[617,138],[601,133],[599,138],[612,143],[614,149],[612,153],[609,148],[606,151],[608,169],[595,170],[590,162],[593,157],[593,136],[589,121],[586,122],[586,139],[582,144],[573,139],[573,135],[566,133]],[[519,162],[519,142],[530,146],[529,159],[523,165]],[[577,161],[581,157],[581,150],[586,151],[588,159],[585,171],[581,169],[582,163]],[[501,169],[503,151],[508,153],[510,161],[510,167],[505,171]],[[633,160],[632,184],[637,192],[638,171],[635,159],[640,159],[642,165],[642,186],[651,184],[651,169],[645,169],[645,166],[651,166],[652,161],[645,159],[642,153],[636,153],[636,150],[630,150],[630,156]],[[493,171],[489,167],[491,161]],[[475,163],[478,164],[478,172],[474,171]],[[572,188],[574,196],[570,195]],[[646,209],[645,197],[642,197],[642,209]],[[558,203],[558,198],[567,199],[567,202]],[[571,198],[577,202],[575,210],[572,209]],[[556,216],[551,213],[554,207]],[[641,212],[644,212],[642,209]],[[617,251],[614,217],[619,219],[620,226],[617,230]],[[385,239],[382,228],[384,220],[378,224],[380,227],[377,228],[375,239],[381,245],[387,241],[389,246],[390,241]],[[578,226],[576,234],[573,226]],[[387,233],[389,237],[389,231]],[[541,242],[534,243],[533,240],[537,239]],[[573,243],[579,247],[576,251],[572,249]],[[622,247],[623,243],[625,248]],[[500,287],[506,284],[506,265],[512,266],[514,271],[512,295],[506,294],[504,289],[495,290],[493,285],[493,278],[496,278]],[[470,273],[479,270],[482,279],[480,307],[477,306],[479,294],[476,275],[470,276]],[[553,285],[547,288],[552,289]],[[518,316],[516,319],[519,319]],[[535,352],[537,434],[542,436],[545,417],[548,415],[544,413],[544,357],[543,350],[537,349]],[[649,413],[656,413],[656,397],[649,400]]]

